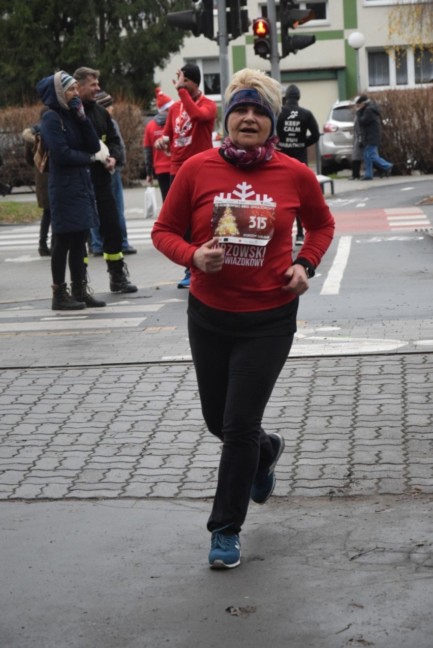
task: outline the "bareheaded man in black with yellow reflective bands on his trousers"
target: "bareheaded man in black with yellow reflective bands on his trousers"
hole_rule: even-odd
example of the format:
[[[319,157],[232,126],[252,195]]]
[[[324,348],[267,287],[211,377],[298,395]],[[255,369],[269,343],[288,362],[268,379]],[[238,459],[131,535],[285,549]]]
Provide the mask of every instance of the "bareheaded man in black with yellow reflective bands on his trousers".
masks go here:
[[[77,82],[78,95],[83,102],[85,114],[103,143],[101,148],[108,149],[104,162],[96,161],[91,166],[91,174],[100,220],[99,231],[104,244],[104,259],[110,277],[110,290],[111,292],[137,292],[137,286],[129,281],[128,268],[123,259],[122,227],[111,189],[111,174],[118,161],[122,159],[120,138],[109,113],[96,104],[96,95],[100,91],[99,70],[79,67],[74,72],[74,79]]]

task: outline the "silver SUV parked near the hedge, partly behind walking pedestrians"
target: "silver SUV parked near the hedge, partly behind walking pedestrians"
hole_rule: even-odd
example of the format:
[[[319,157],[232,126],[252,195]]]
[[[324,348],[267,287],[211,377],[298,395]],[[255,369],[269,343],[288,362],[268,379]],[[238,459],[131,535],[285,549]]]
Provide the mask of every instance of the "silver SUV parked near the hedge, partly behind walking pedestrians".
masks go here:
[[[318,141],[322,174],[351,167],[354,114],[353,101],[336,101],[331,108]]]

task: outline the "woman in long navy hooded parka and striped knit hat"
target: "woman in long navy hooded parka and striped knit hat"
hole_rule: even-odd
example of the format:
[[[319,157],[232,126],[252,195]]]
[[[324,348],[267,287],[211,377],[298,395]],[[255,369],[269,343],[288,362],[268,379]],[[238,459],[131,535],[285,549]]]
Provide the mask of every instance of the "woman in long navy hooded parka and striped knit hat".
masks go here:
[[[87,292],[83,249],[89,229],[99,224],[90,173],[100,152],[98,135],[85,116],[76,81],[64,71],[43,78],[36,91],[49,110],[41,121],[41,139],[49,150],[48,194],[55,235],[51,255],[52,309],[105,306]],[[72,296],[65,283],[71,272]]]

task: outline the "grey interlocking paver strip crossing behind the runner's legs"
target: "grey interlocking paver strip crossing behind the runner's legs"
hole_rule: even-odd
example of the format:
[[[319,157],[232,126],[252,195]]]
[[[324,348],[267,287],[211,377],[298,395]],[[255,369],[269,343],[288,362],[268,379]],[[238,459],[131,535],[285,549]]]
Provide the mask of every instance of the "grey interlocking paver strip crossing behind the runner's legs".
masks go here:
[[[290,358],[265,412],[277,496],[433,492],[433,354]],[[0,373],[0,498],[206,498],[190,363]]]

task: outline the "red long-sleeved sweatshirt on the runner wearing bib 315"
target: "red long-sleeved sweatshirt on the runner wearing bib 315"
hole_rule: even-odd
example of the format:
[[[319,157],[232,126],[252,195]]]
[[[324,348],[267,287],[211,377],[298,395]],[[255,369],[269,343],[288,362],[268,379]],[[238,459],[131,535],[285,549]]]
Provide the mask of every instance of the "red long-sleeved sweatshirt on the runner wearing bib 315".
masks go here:
[[[190,291],[219,310],[276,308],[294,299],[282,290],[292,263],[296,214],[305,228],[299,256],[314,267],[333,238],[334,219],[315,174],[275,152],[259,167],[235,167],[212,149],[187,160],[153,226],[153,244],[191,268]],[[183,235],[192,227],[191,243]],[[213,236],[225,249],[221,272],[194,268],[194,252]]]

